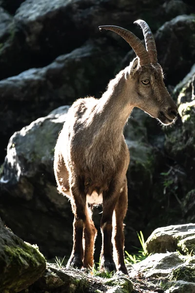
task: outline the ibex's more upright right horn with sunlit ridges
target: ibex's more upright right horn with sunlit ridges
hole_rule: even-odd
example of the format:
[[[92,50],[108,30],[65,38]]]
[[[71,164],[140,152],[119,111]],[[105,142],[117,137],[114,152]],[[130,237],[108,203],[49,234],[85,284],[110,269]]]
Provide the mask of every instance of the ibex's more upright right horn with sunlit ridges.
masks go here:
[[[141,26],[145,43],[146,43],[146,49],[150,57],[150,61],[151,63],[156,64],[157,63],[156,44],[155,44],[155,39],[149,25],[145,21],[142,21],[142,20],[135,21],[134,23],[137,23],[138,25]]]

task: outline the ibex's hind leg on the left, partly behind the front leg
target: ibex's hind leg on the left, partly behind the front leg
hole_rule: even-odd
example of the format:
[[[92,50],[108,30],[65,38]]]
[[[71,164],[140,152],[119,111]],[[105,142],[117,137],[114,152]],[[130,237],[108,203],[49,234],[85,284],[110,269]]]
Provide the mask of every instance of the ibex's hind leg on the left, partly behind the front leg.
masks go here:
[[[84,268],[93,268],[94,266],[94,244],[97,235],[97,229],[91,217],[91,211],[88,205],[85,206],[86,224],[84,228]]]

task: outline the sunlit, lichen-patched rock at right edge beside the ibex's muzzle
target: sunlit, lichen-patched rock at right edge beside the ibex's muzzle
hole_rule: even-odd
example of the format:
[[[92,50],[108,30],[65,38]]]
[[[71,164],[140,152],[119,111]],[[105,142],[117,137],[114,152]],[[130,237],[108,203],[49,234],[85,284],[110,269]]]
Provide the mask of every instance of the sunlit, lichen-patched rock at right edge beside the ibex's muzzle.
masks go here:
[[[194,214],[192,209],[187,207],[189,205],[188,199],[185,200],[187,194],[191,190],[194,190],[194,177],[195,177],[195,65],[192,67],[189,74],[176,86],[174,90],[175,100],[177,101],[179,119],[176,126],[165,130],[165,151],[171,158],[183,168],[183,172],[186,174],[186,179],[180,181],[177,186],[177,194],[182,193],[180,197],[180,206],[183,211],[183,215],[188,217],[192,216],[193,221]],[[167,180],[175,180],[173,174],[168,174]],[[174,185],[171,185],[173,189]],[[193,192],[192,202],[190,206],[193,206]],[[191,211],[191,212],[190,212]],[[187,221],[189,221],[188,219]]]

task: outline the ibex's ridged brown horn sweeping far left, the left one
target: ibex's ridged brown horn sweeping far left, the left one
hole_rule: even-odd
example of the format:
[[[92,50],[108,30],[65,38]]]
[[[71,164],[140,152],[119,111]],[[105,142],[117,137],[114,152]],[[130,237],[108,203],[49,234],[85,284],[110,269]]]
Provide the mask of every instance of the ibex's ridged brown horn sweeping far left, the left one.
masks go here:
[[[146,51],[146,48],[142,44],[142,42],[137,38],[132,32],[128,31],[119,26],[115,25],[102,25],[99,26],[99,30],[101,29],[111,30],[121,36],[126,42],[130,44],[132,49],[135,51],[137,57],[139,58],[140,65],[148,65],[150,64],[149,54]]]

